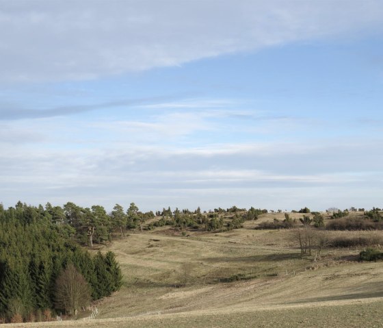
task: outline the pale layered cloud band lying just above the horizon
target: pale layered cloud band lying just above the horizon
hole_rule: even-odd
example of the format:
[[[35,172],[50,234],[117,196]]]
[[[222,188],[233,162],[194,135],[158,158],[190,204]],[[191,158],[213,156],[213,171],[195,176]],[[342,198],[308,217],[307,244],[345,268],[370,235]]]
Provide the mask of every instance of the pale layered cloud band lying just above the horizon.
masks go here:
[[[182,150],[134,142],[92,149],[14,147],[0,158],[1,201],[8,206],[18,199],[72,200],[109,209],[135,201],[148,210],[168,205],[377,206],[383,172],[382,155],[374,149],[381,149],[382,142],[366,144],[306,140]]]

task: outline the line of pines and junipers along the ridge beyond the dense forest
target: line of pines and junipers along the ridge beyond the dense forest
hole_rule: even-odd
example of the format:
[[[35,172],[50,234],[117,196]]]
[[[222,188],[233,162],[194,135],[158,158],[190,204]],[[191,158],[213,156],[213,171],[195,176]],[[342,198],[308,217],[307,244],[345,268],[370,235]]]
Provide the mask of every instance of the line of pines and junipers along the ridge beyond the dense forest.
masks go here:
[[[15,208],[27,208],[28,206],[18,202]],[[10,207],[10,210],[13,207]],[[13,209],[14,210],[14,209]],[[34,220],[38,212],[44,213],[60,234],[76,240],[79,244],[92,247],[94,243],[103,244],[113,238],[123,238],[127,231],[152,230],[156,227],[170,225],[179,229],[201,229],[204,231],[223,231],[242,227],[246,220],[256,220],[259,214],[267,213],[267,210],[250,207],[249,210],[236,206],[222,209],[216,208],[210,212],[201,212],[200,207],[190,211],[187,209],[171,210],[164,207],[155,213],[141,212],[135,203],[130,203],[127,210],[120,204],[116,204],[111,212],[107,212],[101,205],[81,207],[68,202],[61,206],[53,206],[47,203],[44,207],[39,205],[36,211],[30,211],[23,220]],[[32,213],[33,212],[33,213]],[[150,220],[157,218],[157,220]],[[150,222],[148,223],[148,220]]]

